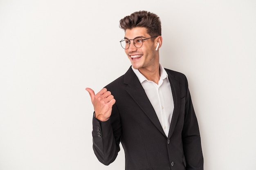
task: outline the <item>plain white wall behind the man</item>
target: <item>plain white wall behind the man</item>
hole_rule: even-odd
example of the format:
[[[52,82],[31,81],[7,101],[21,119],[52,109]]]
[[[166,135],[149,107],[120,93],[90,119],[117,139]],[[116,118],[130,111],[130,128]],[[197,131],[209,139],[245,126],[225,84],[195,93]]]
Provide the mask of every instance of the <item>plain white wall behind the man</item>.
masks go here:
[[[92,150],[98,92],[130,62],[119,20],[162,21],[160,63],[184,73],[205,170],[256,167],[255,0],[0,0],[0,170],[124,170]]]

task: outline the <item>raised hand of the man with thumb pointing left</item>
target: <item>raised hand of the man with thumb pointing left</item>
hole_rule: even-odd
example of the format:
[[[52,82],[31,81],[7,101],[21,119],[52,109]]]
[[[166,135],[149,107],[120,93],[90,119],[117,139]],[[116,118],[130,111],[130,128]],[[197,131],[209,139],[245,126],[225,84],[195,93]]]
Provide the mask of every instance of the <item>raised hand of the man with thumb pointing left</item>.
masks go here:
[[[95,117],[100,121],[107,121],[111,115],[112,106],[116,102],[114,96],[106,88],[101,89],[96,95],[91,88],[85,88],[85,90],[90,94]]]

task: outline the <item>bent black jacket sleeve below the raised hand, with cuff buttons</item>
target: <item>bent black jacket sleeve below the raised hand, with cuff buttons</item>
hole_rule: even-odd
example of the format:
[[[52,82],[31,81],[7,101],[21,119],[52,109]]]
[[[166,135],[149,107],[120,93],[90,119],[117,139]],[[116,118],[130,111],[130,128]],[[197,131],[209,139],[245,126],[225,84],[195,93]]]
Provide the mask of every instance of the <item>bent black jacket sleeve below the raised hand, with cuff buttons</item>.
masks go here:
[[[115,161],[120,151],[121,121],[117,106],[112,106],[112,113],[108,121],[92,119],[92,141],[96,157],[104,165]]]

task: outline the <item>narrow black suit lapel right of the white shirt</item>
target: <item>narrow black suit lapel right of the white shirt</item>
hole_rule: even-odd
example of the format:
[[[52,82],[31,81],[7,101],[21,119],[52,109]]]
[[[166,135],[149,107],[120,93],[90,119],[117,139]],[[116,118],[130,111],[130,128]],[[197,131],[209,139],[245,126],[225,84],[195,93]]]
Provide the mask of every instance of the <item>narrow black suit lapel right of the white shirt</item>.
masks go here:
[[[169,135],[168,135],[168,138],[171,138],[171,135],[173,134],[173,131],[174,131],[174,128],[176,126],[177,119],[179,116],[179,112],[180,112],[180,85],[179,85],[179,82],[174,78],[173,75],[168,73],[167,70],[166,70],[166,72],[168,74],[168,79],[171,84],[171,90],[172,90],[173,102],[174,102],[173,116],[171,119],[171,126],[170,126],[170,130],[169,130]]]

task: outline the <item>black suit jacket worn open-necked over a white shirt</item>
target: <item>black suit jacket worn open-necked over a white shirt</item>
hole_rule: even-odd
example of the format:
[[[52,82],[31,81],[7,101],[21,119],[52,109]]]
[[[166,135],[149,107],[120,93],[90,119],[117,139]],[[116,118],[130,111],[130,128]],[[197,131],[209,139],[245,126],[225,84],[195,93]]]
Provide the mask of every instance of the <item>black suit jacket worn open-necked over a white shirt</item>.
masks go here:
[[[187,79],[182,73],[165,70],[174,101],[168,137],[130,67],[106,86],[116,99],[110,119],[102,122],[93,117],[93,150],[101,163],[109,165],[115,160],[121,141],[126,170],[203,170],[200,133]]]

